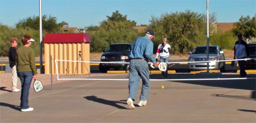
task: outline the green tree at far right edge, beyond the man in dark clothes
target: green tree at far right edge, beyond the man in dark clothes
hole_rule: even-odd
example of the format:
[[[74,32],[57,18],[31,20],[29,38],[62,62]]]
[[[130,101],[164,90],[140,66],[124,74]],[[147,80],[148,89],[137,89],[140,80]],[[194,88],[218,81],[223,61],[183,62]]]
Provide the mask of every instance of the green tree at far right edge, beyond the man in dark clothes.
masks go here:
[[[255,37],[256,36],[256,14],[254,17],[250,18],[249,16],[241,16],[239,21],[234,23],[232,32],[234,35],[241,33],[244,36]]]

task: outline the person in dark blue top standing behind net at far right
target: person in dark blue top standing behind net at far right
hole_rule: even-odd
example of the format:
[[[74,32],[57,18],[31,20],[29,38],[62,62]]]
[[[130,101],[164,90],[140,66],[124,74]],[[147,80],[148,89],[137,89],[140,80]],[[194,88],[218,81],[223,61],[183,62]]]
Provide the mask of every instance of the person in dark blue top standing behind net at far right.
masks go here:
[[[234,44],[234,59],[245,59],[249,55],[250,53],[247,43],[243,40],[242,34],[238,34],[238,41]],[[244,62],[244,60],[238,61],[240,67],[240,77],[245,77],[247,75]]]

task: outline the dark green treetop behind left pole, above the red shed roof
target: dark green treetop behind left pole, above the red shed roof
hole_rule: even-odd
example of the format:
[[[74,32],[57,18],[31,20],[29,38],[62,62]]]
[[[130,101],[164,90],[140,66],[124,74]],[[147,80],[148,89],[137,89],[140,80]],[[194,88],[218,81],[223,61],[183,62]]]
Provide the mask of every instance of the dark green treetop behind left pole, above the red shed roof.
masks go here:
[[[56,33],[61,27],[66,26],[67,22],[62,21],[57,23],[57,17],[51,15],[42,16],[42,29],[48,33]],[[31,28],[39,31],[39,16],[27,17],[25,19],[19,20],[15,24],[16,28]]]

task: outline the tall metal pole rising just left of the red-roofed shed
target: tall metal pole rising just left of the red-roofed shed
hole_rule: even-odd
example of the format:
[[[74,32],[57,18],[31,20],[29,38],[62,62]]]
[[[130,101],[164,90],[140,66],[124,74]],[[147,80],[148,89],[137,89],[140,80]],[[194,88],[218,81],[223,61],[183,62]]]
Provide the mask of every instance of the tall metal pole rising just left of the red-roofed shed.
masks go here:
[[[40,73],[42,73],[42,2],[39,0],[39,28],[40,28]]]

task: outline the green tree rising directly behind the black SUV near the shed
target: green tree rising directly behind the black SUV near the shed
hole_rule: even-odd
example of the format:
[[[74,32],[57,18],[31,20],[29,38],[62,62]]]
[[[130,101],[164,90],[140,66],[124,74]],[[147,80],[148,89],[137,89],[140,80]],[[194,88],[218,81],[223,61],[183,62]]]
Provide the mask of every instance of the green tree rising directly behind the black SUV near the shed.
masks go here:
[[[112,16],[100,22],[98,30],[91,37],[91,52],[101,52],[112,43],[134,43],[139,36],[138,31],[133,27],[135,21],[127,20],[127,15],[122,15],[118,11],[113,12]]]

